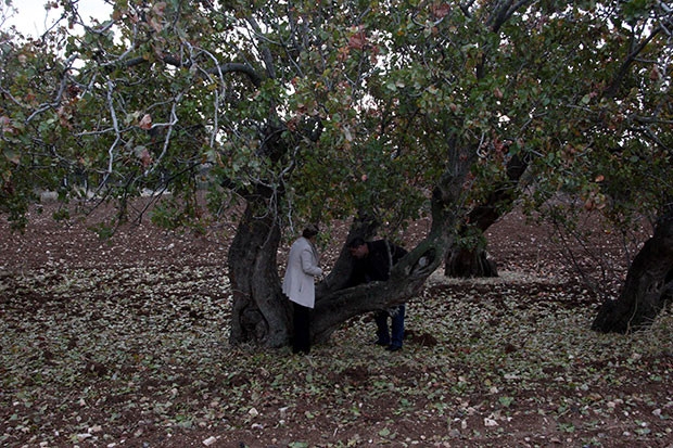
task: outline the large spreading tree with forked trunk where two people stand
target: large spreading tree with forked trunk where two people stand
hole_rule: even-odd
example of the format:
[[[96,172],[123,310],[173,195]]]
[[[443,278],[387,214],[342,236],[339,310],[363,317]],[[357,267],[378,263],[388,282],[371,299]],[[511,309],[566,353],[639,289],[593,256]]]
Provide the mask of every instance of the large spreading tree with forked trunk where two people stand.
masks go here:
[[[36,39],[3,35],[12,69],[0,86],[0,205],[21,222],[35,188],[58,188],[64,201],[114,203],[114,226],[134,218],[130,199],[166,190],[153,219],[181,226],[205,216],[204,188],[211,216],[238,201],[233,343],[288,343],[277,252],[304,222],[357,216],[352,234],[394,238],[409,219],[432,219],[385,283],[345,287],[342,252],[318,287],[313,333],[322,340],[414,296],[475,210],[497,216],[521,195],[526,169],[532,207],[559,191],[608,203],[606,185],[623,179],[598,180],[607,154],[627,154],[625,142],[651,151],[670,117],[661,2],[656,16],[640,2],[109,3],[99,23],[76,2],[50,2],[61,26]],[[659,31],[636,39],[636,57],[624,29],[632,41]],[[652,67],[656,85],[645,79]],[[651,119],[650,139],[626,130],[632,108]],[[666,144],[657,146],[663,159]],[[625,178],[642,174],[626,161],[612,159]],[[670,168],[658,166],[665,179]]]

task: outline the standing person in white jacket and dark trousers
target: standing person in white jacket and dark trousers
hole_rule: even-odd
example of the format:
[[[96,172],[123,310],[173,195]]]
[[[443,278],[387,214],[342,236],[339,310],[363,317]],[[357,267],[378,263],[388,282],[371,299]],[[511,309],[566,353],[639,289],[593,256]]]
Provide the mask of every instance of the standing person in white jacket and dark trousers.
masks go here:
[[[316,303],[315,278],[322,274],[315,247],[318,228],[308,226],[290,247],[282,292],[292,302],[294,337],[292,353],[310,351],[310,310]]]

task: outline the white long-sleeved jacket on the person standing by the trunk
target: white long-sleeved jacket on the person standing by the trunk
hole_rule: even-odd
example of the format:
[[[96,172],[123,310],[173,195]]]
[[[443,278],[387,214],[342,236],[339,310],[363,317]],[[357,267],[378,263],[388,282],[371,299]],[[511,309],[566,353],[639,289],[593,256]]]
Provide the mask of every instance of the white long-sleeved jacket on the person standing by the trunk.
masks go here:
[[[316,303],[314,277],[320,274],[322,269],[318,266],[318,253],[310,241],[301,236],[290,247],[282,292],[290,300],[313,308]]]

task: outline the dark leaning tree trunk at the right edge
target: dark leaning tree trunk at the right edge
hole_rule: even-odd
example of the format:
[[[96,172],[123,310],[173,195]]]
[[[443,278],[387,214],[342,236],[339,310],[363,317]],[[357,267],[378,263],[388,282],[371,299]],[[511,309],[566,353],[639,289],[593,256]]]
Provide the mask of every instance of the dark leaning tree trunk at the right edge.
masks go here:
[[[619,298],[602,304],[592,330],[628,333],[649,325],[672,298],[673,209],[659,220],[631,264]]]

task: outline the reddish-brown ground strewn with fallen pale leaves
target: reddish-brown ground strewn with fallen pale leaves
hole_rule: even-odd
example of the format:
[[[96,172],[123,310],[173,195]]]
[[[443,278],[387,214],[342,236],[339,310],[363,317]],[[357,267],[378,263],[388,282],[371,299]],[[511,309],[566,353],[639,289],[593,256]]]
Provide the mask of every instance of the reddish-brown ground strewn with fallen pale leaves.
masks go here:
[[[0,221],[3,446],[673,447],[670,312],[592,333],[600,298],[518,214],[488,236],[500,278],[433,277],[403,351],[361,317],[309,357],[227,344],[230,225],[102,242],[50,214]],[[574,263],[614,295],[625,255],[609,234],[593,248],[600,265]]]

